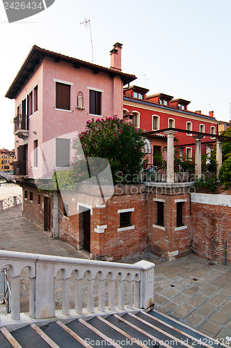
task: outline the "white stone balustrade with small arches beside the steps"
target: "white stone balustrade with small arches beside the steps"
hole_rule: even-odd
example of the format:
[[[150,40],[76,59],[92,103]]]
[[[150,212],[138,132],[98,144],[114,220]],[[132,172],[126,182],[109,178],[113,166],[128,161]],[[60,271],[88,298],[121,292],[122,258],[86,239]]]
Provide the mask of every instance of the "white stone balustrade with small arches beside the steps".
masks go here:
[[[61,271],[62,313],[70,315],[70,277],[75,280],[75,313],[83,315],[83,280],[87,282],[87,312],[102,314],[125,308],[152,308],[154,304],[154,264],[148,261],[122,264],[59,256],[0,251],[0,269],[8,266],[11,288],[11,318],[20,319],[20,275],[29,269],[29,315],[35,319],[56,317],[55,279]],[[99,284],[95,306],[95,279]],[[117,283],[117,285],[116,285]],[[125,286],[126,285],[126,286]],[[106,289],[107,287],[107,289]],[[125,294],[126,290],[126,294]],[[125,296],[126,295],[126,296]],[[117,296],[117,301],[116,301]],[[105,306],[107,299],[108,306]],[[97,312],[98,313],[98,312]]]

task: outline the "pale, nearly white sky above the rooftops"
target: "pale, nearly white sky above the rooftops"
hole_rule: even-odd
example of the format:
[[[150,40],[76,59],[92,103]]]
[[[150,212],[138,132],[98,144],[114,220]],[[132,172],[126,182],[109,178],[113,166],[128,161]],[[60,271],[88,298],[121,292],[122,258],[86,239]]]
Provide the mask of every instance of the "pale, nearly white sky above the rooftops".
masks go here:
[[[11,3],[11,1],[8,1]],[[8,23],[0,3],[0,148],[14,148],[15,102],[5,95],[33,45],[110,66],[121,42],[122,71],[134,84],[190,100],[188,109],[230,120],[230,0],[56,0]]]

